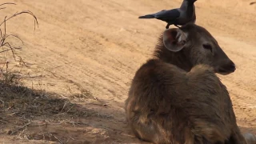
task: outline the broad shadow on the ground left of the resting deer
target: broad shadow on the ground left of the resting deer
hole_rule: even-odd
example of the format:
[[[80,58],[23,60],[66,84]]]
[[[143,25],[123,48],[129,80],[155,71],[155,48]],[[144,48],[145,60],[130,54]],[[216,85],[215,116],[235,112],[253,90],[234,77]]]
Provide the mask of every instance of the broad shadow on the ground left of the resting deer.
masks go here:
[[[85,98],[90,98],[90,94]],[[105,105],[90,109],[58,94],[0,83],[0,134],[14,140],[140,142],[130,134],[124,118],[115,118],[114,114],[118,113],[123,111]]]

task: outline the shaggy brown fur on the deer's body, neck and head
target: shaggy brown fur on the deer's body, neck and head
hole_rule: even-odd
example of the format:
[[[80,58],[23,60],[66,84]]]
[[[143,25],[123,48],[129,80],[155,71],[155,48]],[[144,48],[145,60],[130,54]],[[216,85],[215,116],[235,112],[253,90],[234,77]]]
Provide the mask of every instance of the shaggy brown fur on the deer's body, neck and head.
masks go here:
[[[214,73],[230,59],[224,52],[214,59],[198,50],[202,42],[220,49],[202,27],[190,24],[182,29],[190,45],[174,53],[165,48],[161,36],[156,58],[136,72],[125,105],[131,129],[154,143],[246,144],[226,86]]]

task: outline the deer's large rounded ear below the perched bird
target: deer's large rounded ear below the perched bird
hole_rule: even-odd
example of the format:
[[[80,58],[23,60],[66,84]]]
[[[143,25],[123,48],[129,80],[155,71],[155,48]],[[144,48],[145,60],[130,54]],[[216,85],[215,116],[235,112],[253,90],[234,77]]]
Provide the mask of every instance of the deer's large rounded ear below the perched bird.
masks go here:
[[[186,45],[187,34],[178,28],[168,29],[163,32],[163,44],[166,49],[177,52]]]

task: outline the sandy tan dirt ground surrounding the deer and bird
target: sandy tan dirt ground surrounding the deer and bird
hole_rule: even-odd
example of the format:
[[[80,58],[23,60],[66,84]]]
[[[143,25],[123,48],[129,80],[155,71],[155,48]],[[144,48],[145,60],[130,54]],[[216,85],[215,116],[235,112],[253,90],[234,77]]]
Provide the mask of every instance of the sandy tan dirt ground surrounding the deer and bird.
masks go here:
[[[178,7],[182,0],[2,2],[17,5],[1,10],[0,18],[21,10],[38,17],[35,31],[29,15],[6,27],[25,42],[18,52],[26,62],[19,71],[22,81],[45,94],[31,92],[25,102],[30,103],[27,112],[40,108],[38,114],[24,115],[17,108],[1,114],[0,142],[142,143],[126,126],[123,105],[136,70],[150,58],[166,23],[138,16]],[[214,35],[238,67],[234,74],[219,75],[230,91],[238,126],[256,134],[256,4],[250,2],[198,0],[195,6],[196,23]]]

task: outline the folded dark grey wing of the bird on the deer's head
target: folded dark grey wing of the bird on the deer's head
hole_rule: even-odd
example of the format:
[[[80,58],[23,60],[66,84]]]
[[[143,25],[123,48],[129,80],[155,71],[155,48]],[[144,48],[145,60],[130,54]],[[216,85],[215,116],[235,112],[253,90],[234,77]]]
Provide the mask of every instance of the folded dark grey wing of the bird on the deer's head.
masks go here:
[[[174,21],[179,16],[180,16],[180,12],[178,11],[178,9],[162,10],[154,14],[154,18],[157,18],[166,22]]]

